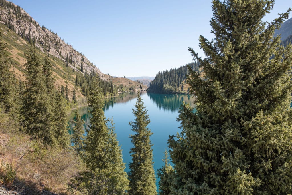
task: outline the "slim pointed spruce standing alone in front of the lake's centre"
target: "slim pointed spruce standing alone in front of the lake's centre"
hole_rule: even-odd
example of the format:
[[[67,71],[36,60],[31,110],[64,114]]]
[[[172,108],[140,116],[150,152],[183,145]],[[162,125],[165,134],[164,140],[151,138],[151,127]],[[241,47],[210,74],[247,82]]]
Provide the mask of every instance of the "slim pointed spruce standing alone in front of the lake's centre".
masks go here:
[[[137,101],[133,109],[135,121],[129,122],[131,130],[136,134],[130,135],[134,145],[130,153],[132,162],[129,165],[129,194],[152,195],[156,192],[156,178],[153,169],[153,155],[151,149],[150,129],[147,125],[150,123],[149,115],[145,109],[140,92],[137,92]]]

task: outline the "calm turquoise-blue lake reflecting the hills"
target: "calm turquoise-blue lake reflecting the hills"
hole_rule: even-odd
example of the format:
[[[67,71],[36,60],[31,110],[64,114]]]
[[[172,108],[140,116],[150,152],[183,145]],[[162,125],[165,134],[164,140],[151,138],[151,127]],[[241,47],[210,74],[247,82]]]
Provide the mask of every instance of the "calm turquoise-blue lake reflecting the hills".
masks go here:
[[[180,132],[178,128],[180,122],[176,121],[178,117],[178,108],[182,101],[190,103],[194,108],[194,98],[185,94],[156,94],[141,92],[141,97],[144,102],[144,106],[148,110],[150,124],[148,128],[151,130],[153,135],[150,140],[153,144],[153,161],[154,171],[161,168],[164,163],[162,162],[163,152],[165,149],[168,150],[167,139],[168,135],[176,134]],[[105,103],[105,117],[113,118],[115,123],[115,129],[117,133],[117,139],[122,148],[123,160],[126,163],[126,172],[128,172],[128,164],[131,162],[131,156],[129,154],[130,148],[133,147],[130,134],[131,131],[129,125],[130,121],[134,121],[135,117],[132,113],[132,109],[135,108],[136,93],[128,92],[121,93],[119,96],[106,99]],[[79,108],[78,112],[81,118],[85,121],[84,127],[89,125],[90,113],[88,113],[89,107]],[[74,112],[70,116],[70,120],[74,118]],[[158,189],[158,180],[156,181]]]

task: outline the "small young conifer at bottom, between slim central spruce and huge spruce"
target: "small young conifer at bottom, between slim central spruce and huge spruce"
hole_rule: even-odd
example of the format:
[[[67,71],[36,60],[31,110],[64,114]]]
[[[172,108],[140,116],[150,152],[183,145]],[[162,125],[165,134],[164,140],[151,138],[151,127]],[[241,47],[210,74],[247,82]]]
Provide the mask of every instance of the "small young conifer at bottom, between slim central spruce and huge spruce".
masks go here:
[[[173,167],[169,164],[167,150],[164,151],[164,158],[162,161],[164,162],[164,166],[157,170],[157,176],[159,177],[159,191],[158,194],[170,194],[171,191],[169,187],[171,186],[171,181],[173,180]]]

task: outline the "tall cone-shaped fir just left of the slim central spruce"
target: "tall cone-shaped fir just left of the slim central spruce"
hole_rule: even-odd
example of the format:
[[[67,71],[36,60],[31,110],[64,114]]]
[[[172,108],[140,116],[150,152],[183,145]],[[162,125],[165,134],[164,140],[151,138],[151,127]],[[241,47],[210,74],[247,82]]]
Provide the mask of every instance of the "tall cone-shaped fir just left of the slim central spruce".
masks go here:
[[[92,108],[91,126],[85,139],[85,163],[90,170],[87,175],[88,194],[124,194],[128,189],[125,164],[117,146],[116,135],[106,125],[103,93],[95,78],[89,98]]]

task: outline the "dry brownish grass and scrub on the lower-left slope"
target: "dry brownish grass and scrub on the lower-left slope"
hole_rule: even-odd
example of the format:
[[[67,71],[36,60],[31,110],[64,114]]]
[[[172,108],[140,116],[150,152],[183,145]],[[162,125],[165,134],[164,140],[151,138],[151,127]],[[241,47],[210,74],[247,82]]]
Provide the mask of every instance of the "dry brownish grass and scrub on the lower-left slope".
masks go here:
[[[16,170],[12,187],[23,194],[40,194],[44,190],[71,194],[68,183],[84,170],[77,154],[70,149],[45,146],[18,131],[17,122],[0,113],[0,164]],[[8,122],[9,121],[9,122]]]

